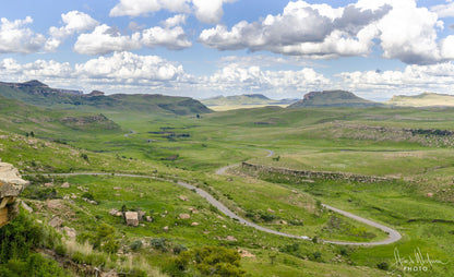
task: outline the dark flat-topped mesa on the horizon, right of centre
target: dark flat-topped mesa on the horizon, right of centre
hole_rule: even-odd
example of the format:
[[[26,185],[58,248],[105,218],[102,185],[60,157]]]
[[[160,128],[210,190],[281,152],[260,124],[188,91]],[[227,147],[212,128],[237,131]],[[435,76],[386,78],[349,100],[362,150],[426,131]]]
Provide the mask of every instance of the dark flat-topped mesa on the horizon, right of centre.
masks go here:
[[[288,108],[327,108],[327,107],[374,107],[383,106],[379,103],[366,100],[346,91],[323,91],[311,92],[304,95],[302,100],[299,100]]]

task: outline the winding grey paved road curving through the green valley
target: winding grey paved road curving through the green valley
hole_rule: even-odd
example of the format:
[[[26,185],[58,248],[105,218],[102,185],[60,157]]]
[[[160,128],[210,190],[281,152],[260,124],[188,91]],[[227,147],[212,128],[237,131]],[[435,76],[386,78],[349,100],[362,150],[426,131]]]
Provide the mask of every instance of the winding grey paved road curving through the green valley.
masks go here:
[[[229,166],[232,167],[232,166]],[[228,167],[227,167],[228,168]],[[225,171],[225,170],[224,170]],[[46,174],[46,173],[40,173],[40,174]],[[79,173],[47,173],[46,176],[61,176],[61,177],[70,177],[70,176],[83,176],[83,174],[88,174],[88,176],[117,176],[117,177],[130,177],[130,178],[150,178],[150,179],[154,179],[156,177],[153,176],[140,176],[140,174],[124,174],[124,173],[106,173],[106,172],[79,172]],[[26,174],[24,174],[26,176]],[[34,176],[34,174],[31,174]],[[169,180],[164,180],[164,181],[169,181]],[[291,233],[285,233],[285,232],[279,232],[273,229],[268,229],[265,228],[263,226],[253,224],[242,217],[239,217],[237,214],[235,214],[234,212],[231,212],[230,209],[228,209],[228,207],[226,207],[223,203],[218,202],[217,200],[215,200],[210,193],[207,193],[206,191],[199,189],[192,184],[186,183],[186,182],[178,182],[179,185],[189,189],[189,190],[194,190],[200,196],[202,196],[203,198],[205,198],[207,202],[210,202],[213,206],[215,206],[217,209],[219,209],[223,214],[225,214],[226,216],[238,220],[240,224],[246,225],[246,226],[250,226],[252,228],[255,228],[258,230],[264,231],[264,232],[268,232],[268,233],[273,233],[273,234],[277,234],[277,236],[282,236],[282,237],[287,237],[287,238],[295,238],[295,239],[301,239],[301,240],[310,240],[309,237],[307,236],[297,236],[297,234],[291,234]],[[374,222],[371,221],[369,219],[356,216],[354,214],[350,214],[348,212],[328,206],[328,205],[324,205],[322,204],[325,208],[331,209],[333,212],[336,212],[338,214],[342,214],[346,217],[353,218],[355,220],[358,220],[360,222],[370,225],[372,227],[379,228],[381,230],[383,230],[384,232],[387,232],[390,236],[387,239],[383,240],[383,241],[375,241],[375,242],[347,242],[347,241],[323,241],[325,243],[332,243],[332,244],[343,244],[343,245],[359,245],[359,246],[374,246],[374,245],[383,245],[383,244],[390,244],[393,242],[398,241],[402,236],[399,232],[397,232],[394,229],[391,229],[384,225],[381,225],[379,222]]]

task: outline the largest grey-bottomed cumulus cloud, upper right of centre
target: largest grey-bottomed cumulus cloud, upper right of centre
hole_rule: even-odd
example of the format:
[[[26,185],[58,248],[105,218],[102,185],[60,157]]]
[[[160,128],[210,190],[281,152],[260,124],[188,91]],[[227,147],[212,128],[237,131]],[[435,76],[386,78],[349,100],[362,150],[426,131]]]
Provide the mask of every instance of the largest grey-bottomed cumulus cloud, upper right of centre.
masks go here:
[[[248,48],[309,58],[333,58],[362,55],[377,31],[368,26],[382,19],[391,7],[377,10],[348,5],[334,9],[327,4],[289,2],[278,15],[260,22],[242,21],[231,27],[224,25],[205,29],[199,41],[219,50]]]

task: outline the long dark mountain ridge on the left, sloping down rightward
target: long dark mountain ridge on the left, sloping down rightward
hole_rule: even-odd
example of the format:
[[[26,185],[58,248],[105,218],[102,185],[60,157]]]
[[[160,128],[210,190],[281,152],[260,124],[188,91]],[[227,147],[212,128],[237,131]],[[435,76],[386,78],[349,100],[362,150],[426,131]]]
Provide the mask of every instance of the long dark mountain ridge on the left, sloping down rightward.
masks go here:
[[[131,110],[181,116],[211,112],[206,106],[189,97],[172,97],[158,94],[105,95],[98,91],[84,95],[79,91],[51,88],[39,81],[0,83],[0,95],[29,105],[57,109]]]

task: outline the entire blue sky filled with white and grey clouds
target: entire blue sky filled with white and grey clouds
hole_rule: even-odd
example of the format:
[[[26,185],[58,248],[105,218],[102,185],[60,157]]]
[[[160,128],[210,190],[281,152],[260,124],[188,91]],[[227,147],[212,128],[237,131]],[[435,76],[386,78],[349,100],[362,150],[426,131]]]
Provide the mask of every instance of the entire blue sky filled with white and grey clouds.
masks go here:
[[[198,99],[454,95],[453,0],[1,2],[2,82]]]

